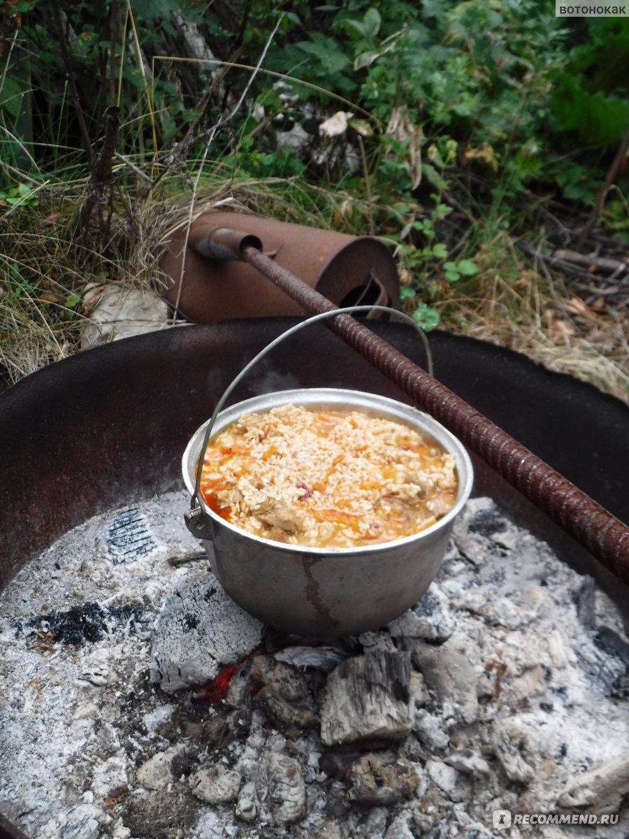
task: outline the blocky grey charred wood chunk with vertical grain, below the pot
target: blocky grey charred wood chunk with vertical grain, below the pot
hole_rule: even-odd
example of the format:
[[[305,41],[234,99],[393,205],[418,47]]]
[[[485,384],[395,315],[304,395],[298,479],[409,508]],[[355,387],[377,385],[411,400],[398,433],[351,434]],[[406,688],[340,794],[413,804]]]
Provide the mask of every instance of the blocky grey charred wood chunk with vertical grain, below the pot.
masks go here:
[[[371,653],[341,662],[321,703],[326,746],[370,738],[401,740],[413,728],[408,653]]]

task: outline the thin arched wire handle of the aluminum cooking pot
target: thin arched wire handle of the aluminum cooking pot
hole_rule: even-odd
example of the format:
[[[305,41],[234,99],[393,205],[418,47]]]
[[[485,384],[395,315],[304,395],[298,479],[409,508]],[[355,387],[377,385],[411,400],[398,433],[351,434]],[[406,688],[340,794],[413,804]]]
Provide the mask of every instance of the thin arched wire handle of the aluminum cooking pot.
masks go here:
[[[291,326],[290,329],[282,332],[281,335],[278,335],[277,338],[273,338],[263,350],[257,353],[256,356],[252,358],[250,362],[248,362],[240,373],[237,374],[237,377],[233,379],[231,384],[227,385],[225,392],[221,396],[221,399],[218,400],[216,403],[216,408],[211,415],[210,422],[207,424],[207,428],[205,429],[205,435],[203,436],[203,442],[201,443],[200,451],[199,451],[199,459],[196,463],[196,476],[195,476],[195,492],[192,493],[192,498],[190,499],[190,512],[185,513],[186,524],[190,527],[190,524],[193,524],[195,535],[200,534],[200,538],[205,538],[202,535],[202,519],[205,518],[202,516],[201,505],[199,501],[199,491],[201,485],[201,473],[203,472],[203,461],[205,460],[205,451],[207,450],[207,445],[210,442],[212,429],[214,428],[214,424],[216,423],[216,417],[220,414],[223,405],[226,403],[226,400],[229,398],[231,392],[237,385],[242,381],[247,373],[251,370],[251,368],[257,364],[264,356],[271,352],[274,347],[277,347],[279,343],[281,343],[284,338],[288,338],[291,335],[294,335],[295,332],[299,332],[299,330],[305,329],[306,326],[310,326],[311,323],[314,323],[316,320],[327,320],[330,317],[336,317],[336,315],[351,315],[356,312],[372,312],[372,311],[380,311],[380,312],[388,312],[389,314],[396,315],[396,317],[400,318],[401,320],[406,321],[407,323],[414,326],[414,328],[418,331],[419,336],[421,337],[424,343],[424,350],[426,352],[426,359],[427,359],[427,367],[428,373],[430,376],[433,375],[433,355],[430,351],[430,345],[428,338],[426,337],[425,331],[422,329],[421,326],[416,323],[412,317],[406,315],[404,312],[398,311],[397,309],[392,309],[391,306],[380,306],[380,305],[355,305],[355,306],[345,306],[342,309],[335,309],[330,310],[328,312],[321,312],[319,315],[312,315],[306,320],[302,320],[301,323],[296,324],[295,326]],[[192,529],[192,528],[190,528]]]

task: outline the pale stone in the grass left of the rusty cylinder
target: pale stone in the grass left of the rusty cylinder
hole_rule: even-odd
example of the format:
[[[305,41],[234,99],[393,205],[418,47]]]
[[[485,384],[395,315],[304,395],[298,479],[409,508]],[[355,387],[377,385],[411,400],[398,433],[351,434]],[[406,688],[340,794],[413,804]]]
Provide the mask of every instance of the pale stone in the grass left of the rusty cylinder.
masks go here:
[[[148,289],[121,283],[99,285],[83,296],[91,309],[81,327],[81,350],[168,326],[168,305]]]

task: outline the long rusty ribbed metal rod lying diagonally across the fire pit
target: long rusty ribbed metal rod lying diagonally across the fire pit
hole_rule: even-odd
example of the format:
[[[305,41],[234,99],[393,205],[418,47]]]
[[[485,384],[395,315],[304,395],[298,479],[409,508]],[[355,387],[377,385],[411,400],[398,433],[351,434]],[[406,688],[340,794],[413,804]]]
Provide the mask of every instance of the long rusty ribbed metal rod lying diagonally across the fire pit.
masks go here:
[[[242,258],[309,313],[337,308],[259,249],[244,246]],[[512,487],[629,584],[629,528],[626,524],[350,315],[339,315],[330,320],[328,326],[391,379],[418,407],[457,435]]]

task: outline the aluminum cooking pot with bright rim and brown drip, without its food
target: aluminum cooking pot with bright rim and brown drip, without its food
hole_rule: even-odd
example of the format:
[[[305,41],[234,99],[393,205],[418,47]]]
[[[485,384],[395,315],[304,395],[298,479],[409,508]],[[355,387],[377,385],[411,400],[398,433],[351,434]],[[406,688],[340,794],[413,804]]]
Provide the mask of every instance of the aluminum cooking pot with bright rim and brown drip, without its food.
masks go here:
[[[324,549],[263,539],[221,519],[199,499],[211,523],[213,538],[204,539],[204,545],[212,570],[247,612],[305,635],[339,636],[381,627],[413,606],[439,571],[455,517],[470,497],[470,457],[428,414],[376,393],[335,388],[285,390],[247,399],[221,411],[213,431],[243,414],[285,404],[366,410],[412,426],[455,457],[459,487],[454,507],[428,529],[379,545]],[[183,456],[185,485],[191,493],[207,425],[196,430]]]

